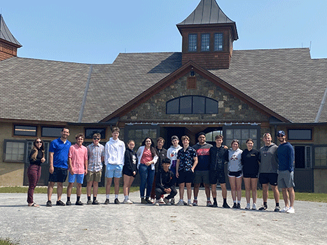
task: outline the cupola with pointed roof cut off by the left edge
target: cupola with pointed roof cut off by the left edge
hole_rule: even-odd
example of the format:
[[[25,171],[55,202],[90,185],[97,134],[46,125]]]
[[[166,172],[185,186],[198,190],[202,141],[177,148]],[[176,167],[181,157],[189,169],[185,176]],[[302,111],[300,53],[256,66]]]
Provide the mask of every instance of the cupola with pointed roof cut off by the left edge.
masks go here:
[[[17,39],[11,34],[4,18],[0,14],[0,61],[17,56],[17,49],[22,47]]]

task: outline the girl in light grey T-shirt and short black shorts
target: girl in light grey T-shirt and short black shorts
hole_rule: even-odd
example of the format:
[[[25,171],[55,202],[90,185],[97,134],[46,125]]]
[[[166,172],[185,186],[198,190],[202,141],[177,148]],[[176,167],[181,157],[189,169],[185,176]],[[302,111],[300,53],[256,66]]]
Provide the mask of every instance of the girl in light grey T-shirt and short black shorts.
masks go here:
[[[225,161],[228,162],[228,179],[232,193],[233,209],[241,208],[242,199],[242,150],[239,148],[239,141],[232,140],[232,148],[225,153]],[[236,196],[237,194],[237,196]],[[237,197],[237,204],[236,204]]]

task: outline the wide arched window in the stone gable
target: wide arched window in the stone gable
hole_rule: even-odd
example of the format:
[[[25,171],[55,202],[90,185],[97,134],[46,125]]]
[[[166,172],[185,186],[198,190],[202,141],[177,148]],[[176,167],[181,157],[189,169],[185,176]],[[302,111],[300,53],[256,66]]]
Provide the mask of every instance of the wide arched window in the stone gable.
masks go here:
[[[214,99],[188,95],[171,99],[166,103],[167,114],[217,114],[218,102]]]

